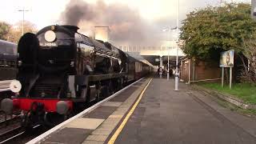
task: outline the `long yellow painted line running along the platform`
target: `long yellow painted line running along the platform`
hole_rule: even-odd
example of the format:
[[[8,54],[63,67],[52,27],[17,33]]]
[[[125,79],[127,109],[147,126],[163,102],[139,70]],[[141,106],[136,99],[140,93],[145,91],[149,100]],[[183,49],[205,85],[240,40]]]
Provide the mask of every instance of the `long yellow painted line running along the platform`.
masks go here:
[[[150,82],[152,81],[153,78],[150,79]],[[118,130],[116,130],[114,132],[114,134],[112,135],[112,137],[110,138],[110,141],[107,142],[108,144],[114,144],[115,140],[118,138],[118,135],[121,133],[122,129],[124,126],[126,126],[126,122],[128,121],[128,119],[130,118],[131,114],[134,113],[134,110],[136,109],[136,107],[138,106],[138,102],[141,101],[142,96],[144,94],[144,92],[146,91],[146,88],[150,85],[150,82],[147,83],[147,85],[144,87],[144,89],[142,90],[142,93],[139,95],[138,100],[134,103],[134,106],[130,109],[129,113],[126,115],[126,118],[123,119],[121,125],[118,127]]]

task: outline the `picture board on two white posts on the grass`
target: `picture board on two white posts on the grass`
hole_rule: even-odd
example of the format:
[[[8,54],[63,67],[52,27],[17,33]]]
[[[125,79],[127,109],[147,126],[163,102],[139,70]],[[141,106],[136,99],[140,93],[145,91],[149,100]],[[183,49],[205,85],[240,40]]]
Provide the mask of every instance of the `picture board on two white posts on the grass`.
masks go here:
[[[234,66],[234,50],[228,50],[221,53],[219,66],[220,67]]]

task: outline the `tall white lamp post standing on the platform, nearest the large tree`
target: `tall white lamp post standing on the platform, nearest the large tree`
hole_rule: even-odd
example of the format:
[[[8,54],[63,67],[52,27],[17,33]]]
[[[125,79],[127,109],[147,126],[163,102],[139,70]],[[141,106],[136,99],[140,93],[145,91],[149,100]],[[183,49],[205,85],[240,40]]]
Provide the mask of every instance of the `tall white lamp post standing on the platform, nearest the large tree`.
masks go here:
[[[176,70],[175,70],[175,91],[178,91],[178,18],[179,17],[179,0],[177,7],[177,55],[176,55]]]

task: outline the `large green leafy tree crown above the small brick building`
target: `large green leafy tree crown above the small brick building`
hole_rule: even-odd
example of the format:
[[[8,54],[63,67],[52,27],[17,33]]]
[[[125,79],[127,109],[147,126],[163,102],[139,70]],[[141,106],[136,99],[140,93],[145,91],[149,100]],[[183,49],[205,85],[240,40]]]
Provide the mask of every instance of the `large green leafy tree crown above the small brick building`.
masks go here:
[[[245,3],[194,10],[182,23],[182,50],[199,59],[218,60],[224,50],[243,53],[243,42],[256,30],[256,22],[250,18],[250,5]]]

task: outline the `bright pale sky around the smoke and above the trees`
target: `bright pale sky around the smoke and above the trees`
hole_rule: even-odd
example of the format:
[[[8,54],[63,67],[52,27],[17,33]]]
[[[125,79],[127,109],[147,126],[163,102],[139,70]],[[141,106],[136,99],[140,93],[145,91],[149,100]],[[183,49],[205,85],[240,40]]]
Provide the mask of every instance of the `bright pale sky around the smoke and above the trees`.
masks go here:
[[[79,0],[0,0],[0,21],[15,24],[22,21],[22,12],[25,20],[34,23],[38,30],[45,26],[63,24],[62,14],[67,5]],[[80,0],[87,4],[94,4],[97,0]],[[178,0],[100,0],[106,5],[115,6],[122,3],[136,11],[146,22],[147,26],[162,31],[167,27],[175,27],[177,19]],[[179,20],[186,18],[186,14],[205,6],[218,6],[221,0],[179,0]],[[231,2],[231,0],[222,0]],[[249,2],[250,0],[233,0],[234,2]],[[119,6],[117,4],[117,6]],[[65,24],[65,23],[64,23]]]

